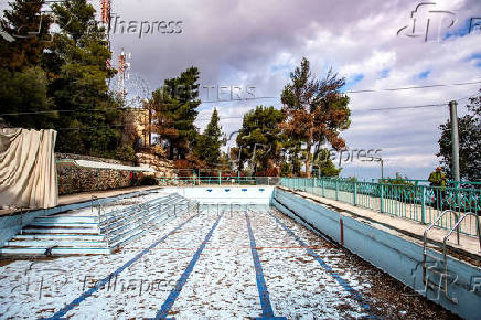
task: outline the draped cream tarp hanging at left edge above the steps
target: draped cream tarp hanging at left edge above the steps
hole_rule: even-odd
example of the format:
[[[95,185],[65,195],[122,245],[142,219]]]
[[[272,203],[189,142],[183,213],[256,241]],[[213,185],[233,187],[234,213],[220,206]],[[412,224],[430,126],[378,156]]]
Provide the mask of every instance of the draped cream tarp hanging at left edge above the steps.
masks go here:
[[[0,206],[57,205],[55,139],[50,129],[0,129]]]

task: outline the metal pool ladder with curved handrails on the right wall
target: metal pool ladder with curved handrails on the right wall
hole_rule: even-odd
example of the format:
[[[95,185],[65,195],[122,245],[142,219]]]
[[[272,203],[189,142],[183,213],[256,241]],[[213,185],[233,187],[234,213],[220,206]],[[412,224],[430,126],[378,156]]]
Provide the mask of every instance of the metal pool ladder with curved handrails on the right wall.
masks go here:
[[[447,213],[451,213],[455,215],[455,225],[448,231],[448,233],[446,234],[443,241],[442,241],[442,259],[439,258],[436,255],[429,254],[428,249],[427,249],[427,235],[428,232],[434,228],[437,223],[447,214]],[[452,303],[458,303],[458,299],[451,297],[448,294],[448,285],[449,285],[449,280],[453,279],[456,280],[457,276],[450,275],[448,273],[448,247],[447,247],[447,243],[448,243],[448,238],[450,237],[450,235],[455,232],[457,233],[457,244],[460,245],[459,242],[459,226],[461,224],[461,222],[469,215],[473,215],[477,222],[477,234],[478,234],[478,238],[479,238],[479,243],[480,243],[480,249],[481,249],[481,234],[480,234],[480,223],[479,223],[479,218],[478,215],[475,213],[472,212],[466,212],[464,214],[462,214],[461,216],[459,216],[459,214],[453,211],[453,210],[446,210],[443,212],[441,212],[441,214],[435,220],[435,222],[432,222],[425,231],[424,233],[424,245],[423,245],[423,285],[425,287],[425,289],[431,289],[434,291],[439,290],[442,291],[445,294],[445,297],[451,301]],[[441,245],[438,245],[439,248],[441,248]],[[428,259],[432,259],[430,262],[428,262]],[[434,265],[429,265],[431,263],[435,263]],[[439,266],[439,264],[441,264],[441,266]],[[438,282],[431,281],[429,280],[429,273],[436,275],[439,278]],[[438,292],[439,292],[438,291]]]

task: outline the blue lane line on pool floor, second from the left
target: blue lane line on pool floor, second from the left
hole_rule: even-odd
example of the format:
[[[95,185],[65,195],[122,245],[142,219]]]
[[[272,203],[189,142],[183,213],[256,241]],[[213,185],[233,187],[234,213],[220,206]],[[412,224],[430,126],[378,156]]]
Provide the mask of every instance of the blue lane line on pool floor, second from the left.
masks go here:
[[[175,302],[177,298],[179,297],[183,286],[188,281],[190,275],[192,274],[192,270],[194,269],[195,264],[197,263],[199,258],[201,257],[202,252],[204,250],[207,242],[211,239],[212,234],[214,233],[215,228],[218,225],[218,222],[221,221],[221,217],[224,215],[224,212],[217,217],[214,225],[212,226],[211,231],[205,236],[204,241],[202,242],[199,249],[195,252],[194,256],[192,257],[192,260],[189,263],[189,266],[185,268],[184,273],[181,275],[179,280],[177,280],[175,287],[170,291],[169,297],[167,297],[165,301],[163,302],[162,307],[160,307],[160,310],[156,314],[156,319],[165,319],[169,314],[169,310],[172,308],[173,303]]]

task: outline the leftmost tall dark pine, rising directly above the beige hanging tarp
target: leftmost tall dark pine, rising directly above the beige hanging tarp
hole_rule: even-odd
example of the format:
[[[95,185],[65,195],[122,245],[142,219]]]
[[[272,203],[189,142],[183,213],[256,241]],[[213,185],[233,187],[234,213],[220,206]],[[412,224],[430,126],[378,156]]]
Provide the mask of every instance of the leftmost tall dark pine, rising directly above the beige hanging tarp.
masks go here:
[[[40,66],[50,39],[51,18],[41,17],[41,3],[17,0],[0,19],[0,110],[8,125],[52,128],[57,114]]]

